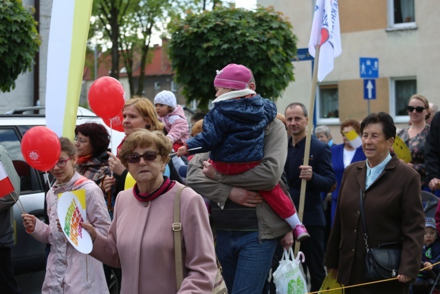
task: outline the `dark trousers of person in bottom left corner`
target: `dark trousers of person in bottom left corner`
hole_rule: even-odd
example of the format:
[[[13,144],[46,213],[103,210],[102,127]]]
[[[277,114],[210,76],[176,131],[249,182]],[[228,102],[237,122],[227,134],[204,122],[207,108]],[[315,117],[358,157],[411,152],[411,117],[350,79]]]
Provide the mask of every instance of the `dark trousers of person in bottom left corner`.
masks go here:
[[[0,293],[21,294],[19,286],[14,279],[11,249],[9,247],[0,247]]]

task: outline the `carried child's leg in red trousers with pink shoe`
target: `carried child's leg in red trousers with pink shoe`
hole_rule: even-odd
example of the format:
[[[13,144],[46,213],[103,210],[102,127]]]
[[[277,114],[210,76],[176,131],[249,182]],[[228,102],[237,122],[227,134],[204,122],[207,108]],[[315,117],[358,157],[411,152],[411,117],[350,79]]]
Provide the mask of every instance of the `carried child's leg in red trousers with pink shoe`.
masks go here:
[[[284,218],[285,221],[289,223],[298,242],[309,238],[310,235],[298,218],[298,213],[296,213],[292,200],[287,197],[279,184],[271,191],[259,191],[259,193],[278,216],[281,216],[281,218]]]

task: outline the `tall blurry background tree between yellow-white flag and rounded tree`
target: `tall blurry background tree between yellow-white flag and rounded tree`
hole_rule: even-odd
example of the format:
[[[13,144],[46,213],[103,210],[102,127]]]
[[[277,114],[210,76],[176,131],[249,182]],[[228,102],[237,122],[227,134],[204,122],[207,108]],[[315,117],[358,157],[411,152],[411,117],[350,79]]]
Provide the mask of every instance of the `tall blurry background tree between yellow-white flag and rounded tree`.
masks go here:
[[[201,0],[95,0],[92,15],[98,21],[92,21],[89,37],[94,36],[100,43],[111,43],[110,76],[119,79],[122,61],[130,95],[142,95],[144,69],[154,31],[163,30],[170,18],[185,9],[199,6]],[[136,68],[140,69],[137,83],[133,77]]]

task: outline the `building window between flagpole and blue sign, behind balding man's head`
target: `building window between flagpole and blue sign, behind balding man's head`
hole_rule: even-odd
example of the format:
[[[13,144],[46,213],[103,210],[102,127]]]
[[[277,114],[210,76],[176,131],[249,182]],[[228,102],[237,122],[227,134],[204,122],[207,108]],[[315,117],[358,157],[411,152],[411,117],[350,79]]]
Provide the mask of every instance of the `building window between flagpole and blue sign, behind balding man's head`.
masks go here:
[[[320,84],[316,95],[318,123],[339,123],[338,85]]]

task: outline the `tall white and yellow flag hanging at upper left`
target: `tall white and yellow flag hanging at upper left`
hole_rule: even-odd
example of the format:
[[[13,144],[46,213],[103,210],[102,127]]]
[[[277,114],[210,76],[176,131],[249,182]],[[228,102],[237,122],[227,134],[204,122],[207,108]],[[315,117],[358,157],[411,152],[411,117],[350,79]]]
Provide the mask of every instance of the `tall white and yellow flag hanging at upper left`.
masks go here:
[[[46,125],[74,139],[92,0],[54,0],[47,52]]]

